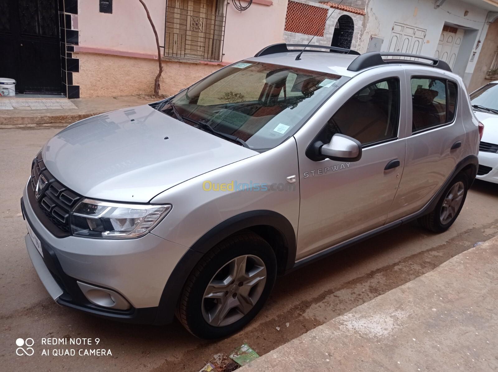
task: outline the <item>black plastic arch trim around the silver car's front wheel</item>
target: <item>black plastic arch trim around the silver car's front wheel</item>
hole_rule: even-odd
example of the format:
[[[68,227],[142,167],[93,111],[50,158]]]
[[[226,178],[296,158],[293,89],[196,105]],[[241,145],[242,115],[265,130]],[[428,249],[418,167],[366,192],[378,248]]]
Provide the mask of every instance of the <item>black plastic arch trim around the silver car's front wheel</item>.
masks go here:
[[[296,235],[292,224],[286,217],[280,213],[262,209],[237,214],[214,226],[185,252],[166,281],[154,323],[167,324],[173,320],[185,282],[197,263],[211,248],[236,232],[255,226],[270,226],[280,233],[283,246],[287,251],[285,267],[282,271],[292,268],[296,259]]]

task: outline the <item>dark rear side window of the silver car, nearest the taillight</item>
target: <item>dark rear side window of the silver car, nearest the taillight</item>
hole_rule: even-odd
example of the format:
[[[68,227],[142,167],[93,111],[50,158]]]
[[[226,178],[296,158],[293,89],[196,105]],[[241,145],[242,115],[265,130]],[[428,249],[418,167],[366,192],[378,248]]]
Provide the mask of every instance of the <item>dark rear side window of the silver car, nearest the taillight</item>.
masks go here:
[[[445,79],[413,77],[412,133],[448,124],[455,118],[457,85]]]

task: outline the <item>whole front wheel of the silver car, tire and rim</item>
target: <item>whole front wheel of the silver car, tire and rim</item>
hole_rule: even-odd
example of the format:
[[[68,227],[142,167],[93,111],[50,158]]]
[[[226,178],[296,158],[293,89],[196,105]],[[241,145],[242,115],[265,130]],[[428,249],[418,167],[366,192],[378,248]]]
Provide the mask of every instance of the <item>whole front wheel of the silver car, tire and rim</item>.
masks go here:
[[[176,316],[194,336],[216,339],[248,324],[276,278],[270,245],[251,232],[225,239],[197,264],[185,283]]]

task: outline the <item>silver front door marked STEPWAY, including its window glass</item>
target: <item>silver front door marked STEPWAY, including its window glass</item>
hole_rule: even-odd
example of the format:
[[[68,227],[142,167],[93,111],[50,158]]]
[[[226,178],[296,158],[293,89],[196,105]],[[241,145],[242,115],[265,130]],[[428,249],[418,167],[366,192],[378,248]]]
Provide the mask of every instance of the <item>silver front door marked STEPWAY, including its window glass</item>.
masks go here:
[[[405,128],[406,86],[401,68],[375,70],[339,89],[315,122],[295,135],[301,192],[297,260],[379,227],[387,218],[404,165],[406,143],[399,132]],[[336,133],[362,143],[358,162],[314,161],[303,151]],[[395,160],[397,166],[387,167]]]

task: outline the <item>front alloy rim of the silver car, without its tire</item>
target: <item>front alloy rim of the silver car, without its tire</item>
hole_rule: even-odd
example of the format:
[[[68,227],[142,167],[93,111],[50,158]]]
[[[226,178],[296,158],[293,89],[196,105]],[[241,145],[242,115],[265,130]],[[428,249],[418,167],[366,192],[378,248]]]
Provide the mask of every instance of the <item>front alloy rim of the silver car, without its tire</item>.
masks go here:
[[[215,327],[235,323],[256,304],[265,283],[266,267],[259,257],[244,255],[229,261],[204,291],[204,320]]]

